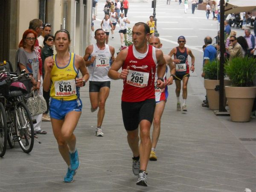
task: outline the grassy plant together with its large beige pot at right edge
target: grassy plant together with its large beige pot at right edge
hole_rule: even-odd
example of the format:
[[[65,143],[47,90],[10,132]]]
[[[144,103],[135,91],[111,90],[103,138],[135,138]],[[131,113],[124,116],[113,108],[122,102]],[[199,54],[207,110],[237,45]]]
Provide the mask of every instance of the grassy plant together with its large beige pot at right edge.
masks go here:
[[[248,122],[256,97],[256,59],[233,58],[226,62],[225,70],[231,81],[231,86],[225,87],[231,121]]]

